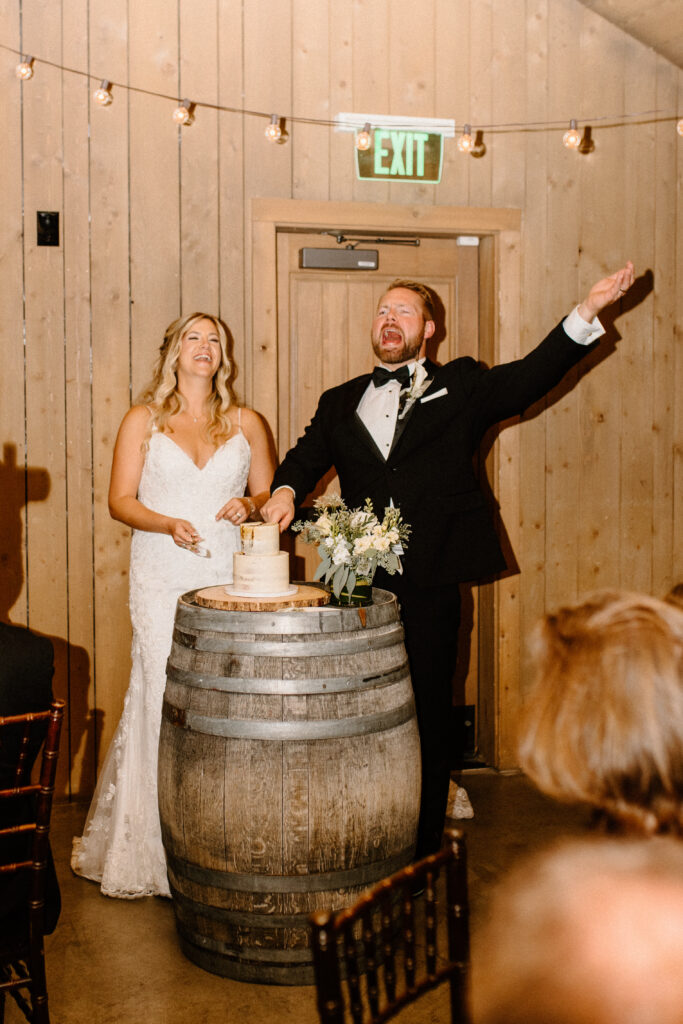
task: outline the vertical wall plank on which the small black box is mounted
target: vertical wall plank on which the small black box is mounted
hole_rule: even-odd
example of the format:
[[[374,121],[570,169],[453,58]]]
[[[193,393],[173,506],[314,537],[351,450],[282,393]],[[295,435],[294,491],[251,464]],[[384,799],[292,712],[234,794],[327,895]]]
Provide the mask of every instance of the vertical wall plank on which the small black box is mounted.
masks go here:
[[[45,33],[48,59],[61,62],[61,10],[45,0],[23,4],[26,36]],[[67,501],[65,460],[63,240],[37,245],[36,213],[62,216],[61,75],[41,68],[25,93],[24,208],[26,287],[26,438],[31,465],[49,477],[49,492],[33,490],[29,475],[27,542],[29,625],[67,635]],[[55,302],[55,296],[58,297]],[[38,623],[40,626],[38,627]],[[55,651],[61,663],[63,651]],[[63,664],[56,666],[63,679]]]

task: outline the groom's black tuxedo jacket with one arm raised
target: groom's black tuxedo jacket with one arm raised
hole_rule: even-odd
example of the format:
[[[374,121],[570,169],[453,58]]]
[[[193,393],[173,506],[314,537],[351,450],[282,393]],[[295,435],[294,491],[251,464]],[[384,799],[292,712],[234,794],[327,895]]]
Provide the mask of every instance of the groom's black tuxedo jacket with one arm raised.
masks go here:
[[[426,360],[431,383],[399,421],[386,460],[355,412],[370,375],[356,377],[324,392],[272,487],[289,484],[301,504],[334,466],[349,507],[371,498],[376,512],[390,499],[400,508],[412,526],[407,581],[442,586],[499,572],[505,559],[472,457],[488,427],[543,397],[592,347],[559,324],[528,355],[490,370],[469,356]]]

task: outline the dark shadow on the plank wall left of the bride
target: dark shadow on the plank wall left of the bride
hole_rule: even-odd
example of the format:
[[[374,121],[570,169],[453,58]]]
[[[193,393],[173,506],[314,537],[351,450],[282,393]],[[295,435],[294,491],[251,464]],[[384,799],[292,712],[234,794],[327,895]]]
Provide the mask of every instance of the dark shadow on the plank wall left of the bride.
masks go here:
[[[46,501],[49,493],[47,469],[17,465],[16,445],[3,444],[0,460],[0,494],[3,497],[0,504],[0,621],[8,625],[17,625],[11,621],[11,611],[24,586],[24,558],[30,557],[30,551],[27,554],[22,547],[22,510],[29,502]],[[73,792],[90,793],[95,778],[96,737],[101,733],[101,721],[98,721],[101,712],[88,709],[90,656],[85,648],[70,643],[67,637],[41,635],[46,636],[54,648],[54,696],[67,701],[67,728],[62,731],[59,750],[61,783],[58,781],[57,785],[59,790],[63,785],[61,792],[70,796]],[[79,755],[81,775],[72,790],[72,769]]]

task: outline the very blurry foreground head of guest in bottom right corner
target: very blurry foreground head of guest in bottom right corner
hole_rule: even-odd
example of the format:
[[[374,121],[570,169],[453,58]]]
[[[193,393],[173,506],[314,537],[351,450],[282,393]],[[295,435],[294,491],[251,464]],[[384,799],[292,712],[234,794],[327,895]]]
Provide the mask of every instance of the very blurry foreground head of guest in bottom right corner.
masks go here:
[[[518,864],[475,932],[474,1024],[681,1024],[683,846],[564,842]]]

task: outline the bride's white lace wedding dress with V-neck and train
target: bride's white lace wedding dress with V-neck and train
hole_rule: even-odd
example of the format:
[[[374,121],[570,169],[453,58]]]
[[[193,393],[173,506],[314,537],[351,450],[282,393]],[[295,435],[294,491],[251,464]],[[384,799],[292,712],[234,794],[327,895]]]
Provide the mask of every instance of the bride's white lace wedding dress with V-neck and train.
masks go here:
[[[108,896],[168,896],[157,802],[157,760],[166,662],[176,601],[200,587],[232,582],[238,526],[216,512],[247,485],[251,452],[240,431],[200,469],[169,434],[154,433],[138,489],[140,502],[187,519],[204,539],[199,557],[167,534],[133,530],[130,552],[132,670],[123,715],[106,754],[72,868]]]

